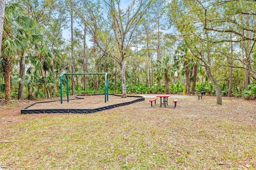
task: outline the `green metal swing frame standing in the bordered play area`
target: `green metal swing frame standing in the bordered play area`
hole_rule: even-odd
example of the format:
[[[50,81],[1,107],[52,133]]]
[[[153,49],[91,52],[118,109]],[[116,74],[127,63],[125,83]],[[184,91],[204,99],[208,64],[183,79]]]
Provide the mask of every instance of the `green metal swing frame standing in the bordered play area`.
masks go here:
[[[63,75],[66,76],[66,80],[67,80],[67,102],[69,102],[68,75],[84,75],[84,74],[89,74],[89,75],[104,74],[105,75],[105,103],[108,101],[108,73],[62,73],[62,75],[60,75],[60,104],[62,104],[62,77],[63,77]]]

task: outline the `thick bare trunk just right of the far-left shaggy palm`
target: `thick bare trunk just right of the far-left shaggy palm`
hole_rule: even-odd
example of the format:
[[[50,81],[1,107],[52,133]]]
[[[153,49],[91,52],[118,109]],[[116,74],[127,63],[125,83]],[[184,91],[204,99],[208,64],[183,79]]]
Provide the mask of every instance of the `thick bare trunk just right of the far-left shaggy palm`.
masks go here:
[[[22,52],[20,57],[20,78],[21,82],[19,82],[19,92],[18,92],[18,100],[24,100],[24,81],[25,81],[25,52]]]

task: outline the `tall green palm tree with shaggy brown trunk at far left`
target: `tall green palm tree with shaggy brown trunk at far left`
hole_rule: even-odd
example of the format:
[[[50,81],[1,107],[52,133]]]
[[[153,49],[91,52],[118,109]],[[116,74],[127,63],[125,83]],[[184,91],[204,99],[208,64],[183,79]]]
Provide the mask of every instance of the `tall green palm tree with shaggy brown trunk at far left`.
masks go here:
[[[2,70],[5,77],[5,100],[11,98],[11,73],[13,60],[28,48],[26,40],[27,29],[35,26],[35,22],[28,17],[25,6],[18,3],[7,4],[4,15],[4,29],[2,37]]]

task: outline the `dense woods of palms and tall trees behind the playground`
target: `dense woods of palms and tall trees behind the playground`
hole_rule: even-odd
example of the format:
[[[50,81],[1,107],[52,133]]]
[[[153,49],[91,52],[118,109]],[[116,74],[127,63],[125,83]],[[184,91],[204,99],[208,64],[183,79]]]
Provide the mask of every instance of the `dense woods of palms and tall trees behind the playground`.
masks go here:
[[[256,95],[254,0],[1,1],[0,13],[5,101],[59,97],[72,72],[107,72],[122,97],[182,93],[175,71],[186,94],[220,105]],[[104,93],[103,76],[70,80],[73,95]]]

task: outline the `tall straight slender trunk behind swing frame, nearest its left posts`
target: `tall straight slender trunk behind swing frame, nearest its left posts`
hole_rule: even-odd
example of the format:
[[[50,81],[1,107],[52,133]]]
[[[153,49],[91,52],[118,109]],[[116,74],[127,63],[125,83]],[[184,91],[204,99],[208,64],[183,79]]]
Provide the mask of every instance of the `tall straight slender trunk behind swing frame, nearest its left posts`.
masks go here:
[[[75,72],[75,57],[74,57],[74,28],[73,28],[73,10],[70,11],[71,15],[71,72]],[[72,75],[72,95],[75,95],[75,76]]]

